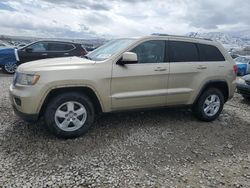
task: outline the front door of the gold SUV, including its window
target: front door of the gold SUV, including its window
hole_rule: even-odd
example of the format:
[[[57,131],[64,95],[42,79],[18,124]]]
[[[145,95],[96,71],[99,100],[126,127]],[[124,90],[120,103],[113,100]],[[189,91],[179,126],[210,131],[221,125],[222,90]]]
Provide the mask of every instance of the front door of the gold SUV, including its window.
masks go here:
[[[113,110],[166,105],[169,63],[165,46],[166,41],[163,40],[142,42],[131,50],[137,54],[138,63],[113,64]]]

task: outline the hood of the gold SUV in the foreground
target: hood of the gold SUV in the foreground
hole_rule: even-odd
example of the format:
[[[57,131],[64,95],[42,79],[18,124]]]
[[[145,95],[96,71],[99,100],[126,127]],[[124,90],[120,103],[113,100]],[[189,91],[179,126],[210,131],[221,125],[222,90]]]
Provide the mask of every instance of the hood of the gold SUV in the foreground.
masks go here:
[[[92,65],[95,61],[91,61],[80,57],[62,57],[42,59],[21,64],[17,71],[42,71],[42,70],[57,70],[57,69],[75,69],[83,65]]]

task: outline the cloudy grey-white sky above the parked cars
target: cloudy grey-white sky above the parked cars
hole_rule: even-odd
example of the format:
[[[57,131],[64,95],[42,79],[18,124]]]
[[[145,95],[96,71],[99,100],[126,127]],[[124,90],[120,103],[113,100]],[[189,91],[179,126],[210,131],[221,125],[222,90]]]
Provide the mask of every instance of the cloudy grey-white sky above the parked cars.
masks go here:
[[[117,38],[250,33],[250,0],[0,0],[0,34]]]

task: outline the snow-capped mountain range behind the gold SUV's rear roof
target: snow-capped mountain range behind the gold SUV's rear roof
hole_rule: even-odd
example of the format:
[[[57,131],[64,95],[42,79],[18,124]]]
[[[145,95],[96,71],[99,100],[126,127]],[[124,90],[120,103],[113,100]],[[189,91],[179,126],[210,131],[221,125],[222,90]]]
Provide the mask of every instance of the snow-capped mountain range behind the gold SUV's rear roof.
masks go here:
[[[249,40],[232,36],[227,33],[221,32],[210,32],[210,33],[195,33],[191,32],[187,34],[190,37],[206,38],[222,43],[227,49],[244,48],[250,45]]]

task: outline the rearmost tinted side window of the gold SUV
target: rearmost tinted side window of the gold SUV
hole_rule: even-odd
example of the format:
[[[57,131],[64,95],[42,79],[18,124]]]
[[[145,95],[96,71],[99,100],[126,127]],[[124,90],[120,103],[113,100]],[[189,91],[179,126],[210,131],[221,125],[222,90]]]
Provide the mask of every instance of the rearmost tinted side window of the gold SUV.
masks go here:
[[[215,46],[198,44],[201,61],[225,61],[220,50]]]

